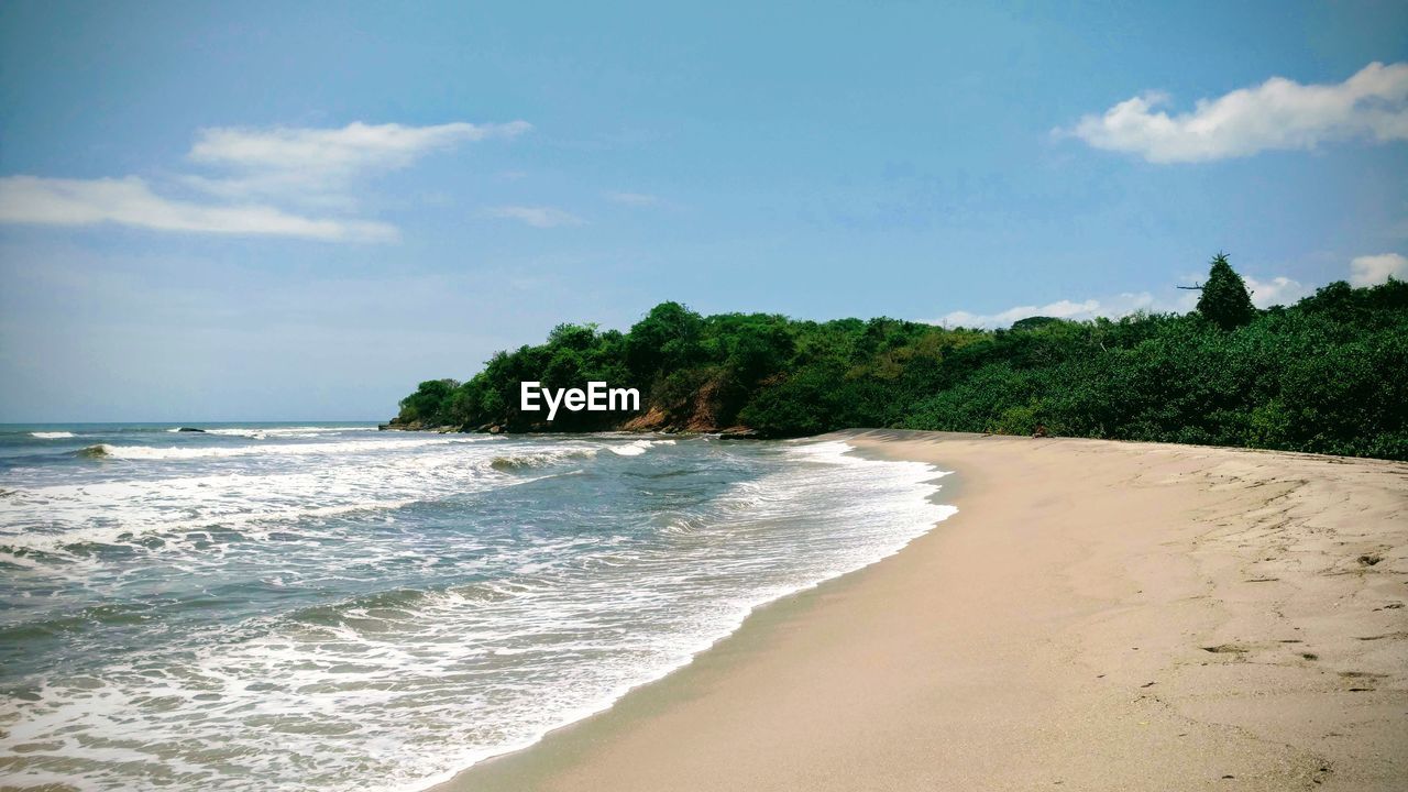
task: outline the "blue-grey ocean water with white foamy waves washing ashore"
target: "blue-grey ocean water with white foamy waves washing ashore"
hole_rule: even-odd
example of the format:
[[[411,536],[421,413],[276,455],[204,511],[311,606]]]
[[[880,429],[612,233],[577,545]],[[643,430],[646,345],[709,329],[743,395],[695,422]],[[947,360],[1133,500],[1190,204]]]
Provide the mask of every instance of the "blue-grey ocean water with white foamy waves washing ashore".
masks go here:
[[[948,517],[835,441],[0,427],[0,786],[422,789]]]

